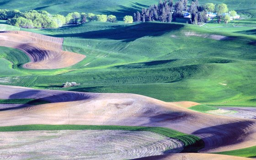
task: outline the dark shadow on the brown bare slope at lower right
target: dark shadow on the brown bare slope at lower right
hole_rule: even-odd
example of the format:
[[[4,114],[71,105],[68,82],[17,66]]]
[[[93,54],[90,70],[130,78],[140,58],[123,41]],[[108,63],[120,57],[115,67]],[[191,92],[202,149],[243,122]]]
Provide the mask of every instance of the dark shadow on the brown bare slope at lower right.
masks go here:
[[[228,123],[202,128],[192,134],[201,137],[206,146],[208,146],[207,149],[214,149],[215,147],[222,147],[242,142],[243,137],[246,137],[250,133],[248,128],[252,127],[252,125],[255,125],[252,121]]]

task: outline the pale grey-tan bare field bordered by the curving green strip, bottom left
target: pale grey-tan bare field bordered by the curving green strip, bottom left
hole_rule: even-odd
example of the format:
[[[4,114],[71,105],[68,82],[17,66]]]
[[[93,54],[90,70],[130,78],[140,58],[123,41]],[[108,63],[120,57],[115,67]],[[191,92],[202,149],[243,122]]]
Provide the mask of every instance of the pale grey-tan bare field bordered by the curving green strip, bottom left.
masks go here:
[[[0,132],[0,159],[120,160],[179,153],[183,144],[148,131],[54,130]]]

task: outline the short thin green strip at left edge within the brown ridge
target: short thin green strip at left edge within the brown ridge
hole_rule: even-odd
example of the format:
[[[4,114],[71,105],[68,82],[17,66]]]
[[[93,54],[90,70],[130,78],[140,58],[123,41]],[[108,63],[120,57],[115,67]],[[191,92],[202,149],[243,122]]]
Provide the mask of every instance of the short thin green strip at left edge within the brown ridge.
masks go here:
[[[28,105],[39,105],[50,103],[49,101],[39,99],[0,99],[0,104],[28,104]]]

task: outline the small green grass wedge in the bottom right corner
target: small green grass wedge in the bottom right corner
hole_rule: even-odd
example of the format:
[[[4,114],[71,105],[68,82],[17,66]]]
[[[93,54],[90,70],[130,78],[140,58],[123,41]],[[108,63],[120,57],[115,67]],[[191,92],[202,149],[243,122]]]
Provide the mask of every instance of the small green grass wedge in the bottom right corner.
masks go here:
[[[225,152],[217,152],[214,154],[234,155],[234,156],[240,156],[240,157],[256,157],[256,146],[244,148],[244,149],[230,150]]]

